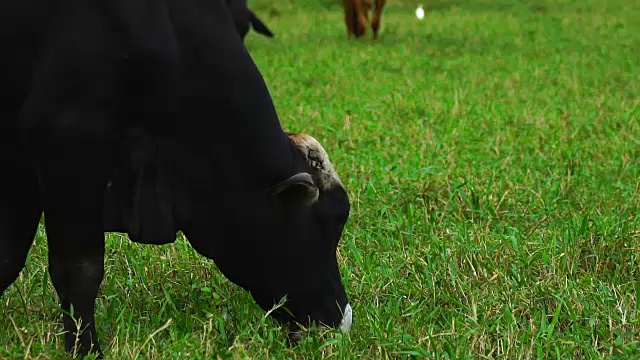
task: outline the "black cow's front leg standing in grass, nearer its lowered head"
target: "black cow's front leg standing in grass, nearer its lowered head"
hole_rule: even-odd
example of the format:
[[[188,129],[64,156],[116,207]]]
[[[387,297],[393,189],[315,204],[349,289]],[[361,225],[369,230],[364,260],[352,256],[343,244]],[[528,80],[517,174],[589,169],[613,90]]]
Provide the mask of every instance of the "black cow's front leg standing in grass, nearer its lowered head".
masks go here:
[[[49,273],[63,310],[66,349],[101,354],[94,306],[104,274],[104,150],[59,143],[40,165]]]

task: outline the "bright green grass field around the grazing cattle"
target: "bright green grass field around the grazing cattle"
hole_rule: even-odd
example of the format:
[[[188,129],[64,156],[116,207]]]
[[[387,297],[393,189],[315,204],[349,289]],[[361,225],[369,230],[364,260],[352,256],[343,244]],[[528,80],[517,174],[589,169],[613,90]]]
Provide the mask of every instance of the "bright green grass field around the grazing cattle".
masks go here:
[[[351,333],[288,348],[184,240],[111,235],[106,355],[640,357],[640,3],[431,0],[418,21],[389,0],[371,44],[337,4],[286,1],[250,1],[276,38],[246,44],[349,189]],[[2,359],[66,356],[46,266],[41,229],[0,299]]]

